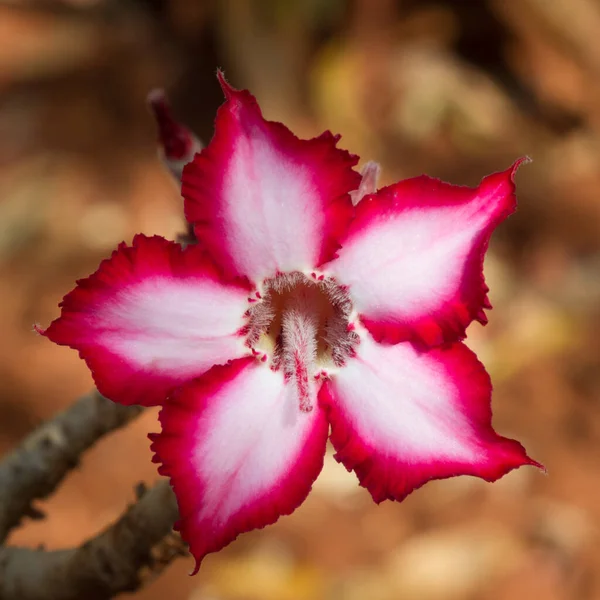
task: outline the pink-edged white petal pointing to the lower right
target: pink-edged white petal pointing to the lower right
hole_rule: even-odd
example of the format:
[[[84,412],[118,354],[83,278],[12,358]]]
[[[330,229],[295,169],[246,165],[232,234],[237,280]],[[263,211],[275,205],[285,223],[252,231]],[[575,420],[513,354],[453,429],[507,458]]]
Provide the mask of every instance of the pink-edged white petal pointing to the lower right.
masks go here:
[[[357,355],[320,392],[336,459],[376,502],[402,500],[430,479],[494,481],[537,465],[491,425],[491,383],[462,343],[420,352],[365,335]]]

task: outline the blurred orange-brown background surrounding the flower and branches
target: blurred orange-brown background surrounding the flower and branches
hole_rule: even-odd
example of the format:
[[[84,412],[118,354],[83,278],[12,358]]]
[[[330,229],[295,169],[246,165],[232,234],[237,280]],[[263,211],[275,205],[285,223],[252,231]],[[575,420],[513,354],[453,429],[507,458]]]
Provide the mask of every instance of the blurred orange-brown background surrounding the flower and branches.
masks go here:
[[[13,0],[0,4],[0,451],[91,387],[32,333],[181,199],[144,98],[164,86],[204,141],[222,67],[267,118],[343,134],[384,180],[476,184],[528,154],[493,239],[495,310],[472,326],[497,429],[548,468],[428,484],[376,507],[328,458],[293,516],[139,598],[600,598],[600,0]],[[11,542],[78,544],[157,478],[147,412],[85,455]]]

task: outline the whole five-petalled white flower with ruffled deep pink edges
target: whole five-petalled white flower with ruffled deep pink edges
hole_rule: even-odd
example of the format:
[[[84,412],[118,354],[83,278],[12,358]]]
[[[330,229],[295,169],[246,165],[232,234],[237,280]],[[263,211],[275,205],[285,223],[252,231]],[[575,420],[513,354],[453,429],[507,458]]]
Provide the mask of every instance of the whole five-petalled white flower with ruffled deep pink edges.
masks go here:
[[[474,189],[375,192],[378,168],[361,181],[339,137],[298,139],[219,79],[214,137],[183,170],[198,244],[136,236],[42,331],[108,398],[162,406],[152,448],[196,570],[302,503],[329,435],[376,502],[537,465],[493,430],[490,379],[460,341],[486,321],[483,257],[522,161]]]

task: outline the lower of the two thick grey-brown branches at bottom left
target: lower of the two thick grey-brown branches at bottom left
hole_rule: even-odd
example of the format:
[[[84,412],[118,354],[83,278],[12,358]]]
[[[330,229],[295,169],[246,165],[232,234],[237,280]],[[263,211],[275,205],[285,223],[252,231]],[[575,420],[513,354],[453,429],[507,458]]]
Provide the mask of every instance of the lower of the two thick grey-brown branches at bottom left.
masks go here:
[[[138,589],[186,546],[172,531],[177,503],[166,481],[78,548],[0,548],[2,600],[105,600]]]

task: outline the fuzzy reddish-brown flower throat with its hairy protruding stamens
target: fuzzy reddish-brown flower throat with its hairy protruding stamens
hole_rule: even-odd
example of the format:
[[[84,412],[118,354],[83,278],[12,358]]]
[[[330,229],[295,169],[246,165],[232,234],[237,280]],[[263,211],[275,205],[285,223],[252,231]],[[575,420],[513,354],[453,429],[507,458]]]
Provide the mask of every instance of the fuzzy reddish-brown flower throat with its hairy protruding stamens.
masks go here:
[[[300,408],[312,410],[316,380],[342,366],[358,343],[348,292],[332,278],[293,272],[265,279],[249,300],[246,344],[271,369],[282,369]]]

